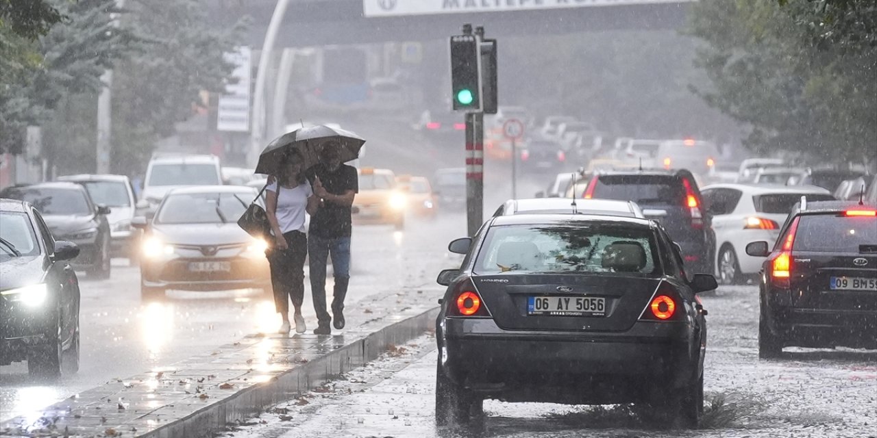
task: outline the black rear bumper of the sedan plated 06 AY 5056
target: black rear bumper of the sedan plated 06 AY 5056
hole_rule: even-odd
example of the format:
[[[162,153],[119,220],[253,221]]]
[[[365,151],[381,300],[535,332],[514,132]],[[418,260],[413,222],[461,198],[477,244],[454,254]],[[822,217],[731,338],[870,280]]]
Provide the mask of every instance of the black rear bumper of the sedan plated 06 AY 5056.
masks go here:
[[[491,319],[439,324],[442,371],[489,398],[626,403],[700,376],[702,347],[684,323],[638,322],[621,334],[510,331]]]

